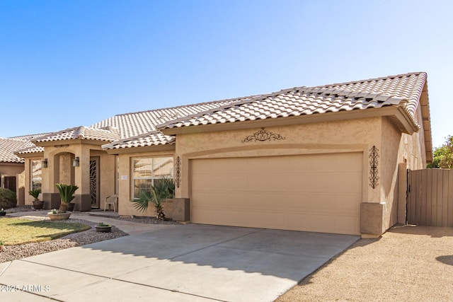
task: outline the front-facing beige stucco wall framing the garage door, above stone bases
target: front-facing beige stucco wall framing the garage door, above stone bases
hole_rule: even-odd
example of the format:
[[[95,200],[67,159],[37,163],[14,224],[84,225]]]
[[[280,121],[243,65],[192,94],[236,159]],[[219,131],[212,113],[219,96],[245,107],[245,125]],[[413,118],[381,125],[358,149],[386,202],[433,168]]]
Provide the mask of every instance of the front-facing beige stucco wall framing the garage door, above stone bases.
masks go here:
[[[283,140],[253,141],[243,139],[258,132],[260,128],[178,134],[176,156],[182,160],[181,187],[176,197],[190,197],[190,159],[222,158],[236,156],[278,156],[311,153],[362,152],[363,164],[367,167],[368,151],[381,144],[382,118],[296,124],[266,127],[265,130],[280,134]],[[379,192],[368,185],[368,169],[362,178],[363,199],[380,202]]]

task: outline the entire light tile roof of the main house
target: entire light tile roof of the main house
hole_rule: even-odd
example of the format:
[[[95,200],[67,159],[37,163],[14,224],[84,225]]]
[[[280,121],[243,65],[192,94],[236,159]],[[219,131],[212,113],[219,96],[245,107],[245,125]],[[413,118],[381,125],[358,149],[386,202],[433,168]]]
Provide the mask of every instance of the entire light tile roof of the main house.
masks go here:
[[[107,142],[103,145],[105,150],[125,149],[174,144],[174,137],[162,134],[160,130],[163,129],[385,106],[403,108],[415,127],[418,127],[414,113],[425,81],[426,74],[420,72],[325,86],[302,86],[266,95],[125,113],[90,127],[74,127],[52,134],[26,137],[32,142],[95,139]],[[21,153],[40,151],[40,147],[31,146],[21,150]]]

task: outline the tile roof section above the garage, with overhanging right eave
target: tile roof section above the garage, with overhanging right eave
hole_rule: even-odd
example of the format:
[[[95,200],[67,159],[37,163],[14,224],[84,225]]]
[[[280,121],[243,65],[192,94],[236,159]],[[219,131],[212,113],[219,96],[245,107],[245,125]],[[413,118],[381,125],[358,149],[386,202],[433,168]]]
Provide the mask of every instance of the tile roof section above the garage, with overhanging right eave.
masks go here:
[[[412,73],[379,79],[326,86],[289,88],[268,95],[236,99],[223,108],[180,117],[159,125],[159,129],[200,124],[265,120],[268,118],[366,110],[394,105],[403,108],[415,127],[415,110],[426,74]]]

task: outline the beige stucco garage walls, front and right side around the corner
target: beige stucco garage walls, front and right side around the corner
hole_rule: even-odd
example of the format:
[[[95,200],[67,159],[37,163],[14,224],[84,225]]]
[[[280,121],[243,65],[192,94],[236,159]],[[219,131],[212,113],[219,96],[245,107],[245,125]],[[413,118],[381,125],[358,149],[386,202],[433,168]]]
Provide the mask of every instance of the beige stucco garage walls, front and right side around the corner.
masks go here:
[[[176,155],[181,158],[181,186],[176,197],[190,198],[190,159],[236,156],[277,156],[309,153],[361,151],[363,156],[362,200],[376,207],[364,209],[365,225],[377,226],[370,233],[384,233],[398,221],[398,164],[423,168],[425,158],[423,138],[419,133],[402,134],[389,117],[296,124],[266,127],[284,140],[254,141],[243,139],[260,128],[178,134]],[[420,132],[423,133],[423,132]],[[369,151],[376,146],[379,155],[378,186],[369,181]],[[405,209],[405,207],[401,207]],[[379,212],[380,215],[375,215]],[[366,216],[369,213],[369,216]],[[374,214],[371,214],[374,213]],[[365,228],[366,229],[366,228]]]

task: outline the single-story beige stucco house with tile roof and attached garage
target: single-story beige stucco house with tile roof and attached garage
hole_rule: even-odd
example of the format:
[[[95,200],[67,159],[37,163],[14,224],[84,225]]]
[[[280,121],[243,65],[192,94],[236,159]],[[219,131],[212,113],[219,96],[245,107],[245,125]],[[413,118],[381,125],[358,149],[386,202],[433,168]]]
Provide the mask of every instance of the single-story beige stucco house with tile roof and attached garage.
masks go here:
[[[118,194],[120,215],[140,215],[130,200],[171,177],[193,223],[379,236],[405,222],[398,170],[432,160],[427,74],[115,115],[31,141],[16,155],[25,190],[41,171],[48,209],[66,182],[76,209]]]

